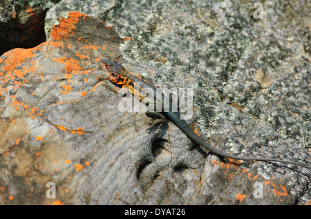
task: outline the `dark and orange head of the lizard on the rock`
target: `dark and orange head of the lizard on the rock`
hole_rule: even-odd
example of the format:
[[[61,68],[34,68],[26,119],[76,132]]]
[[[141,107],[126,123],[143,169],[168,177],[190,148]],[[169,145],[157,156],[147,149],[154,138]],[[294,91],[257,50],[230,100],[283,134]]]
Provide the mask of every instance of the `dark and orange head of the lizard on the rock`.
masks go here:
[[[109,79],[114,84],[120,82],[120,70],[125,70],[123,66],[117,63],[114,59],[101,59],[102,67],[105,72],[109,75]]]

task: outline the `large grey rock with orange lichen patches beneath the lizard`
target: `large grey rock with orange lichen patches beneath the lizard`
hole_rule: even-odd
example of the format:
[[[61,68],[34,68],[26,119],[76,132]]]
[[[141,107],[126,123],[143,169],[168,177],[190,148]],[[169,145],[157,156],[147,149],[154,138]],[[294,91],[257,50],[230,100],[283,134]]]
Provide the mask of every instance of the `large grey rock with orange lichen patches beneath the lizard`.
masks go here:
[[[188,122],[211,146],[311,165],[308,1],[265,1],[263,19],[245,1],[83,2],[57,4],[48,41],[0,57],[0,204],[310,204],[310,170],[225,162],[90,93],[114,58],[193,88]]]

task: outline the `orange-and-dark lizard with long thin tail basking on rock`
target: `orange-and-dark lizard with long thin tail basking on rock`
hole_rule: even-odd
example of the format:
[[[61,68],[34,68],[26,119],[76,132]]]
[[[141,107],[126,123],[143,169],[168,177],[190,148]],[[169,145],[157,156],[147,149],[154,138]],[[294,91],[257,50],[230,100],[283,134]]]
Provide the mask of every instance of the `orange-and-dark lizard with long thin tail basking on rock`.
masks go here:
[[[109,88],[112,91],[115,91],[116,93],[119,93],[120,90],[123,90],[128,88],[130,93],[140,99],[140,102],[143,102],[146,105],[149,104],[156,104],[155,101],[158,100],[156,97],[151,96],[149,98],[149,95],[146,94],[144,89],[149,89],[149,91],[156,92],[156,87],[153,86],[150,82],[140,77],[140,74],[133,74],[129,73],[124,66],[120,65],[115,61],[115,59],[100,59],[100,66],[102,66],[104,72],[108,75],[108,79],[110,82],[112,82],[111,86]],[[136,87],[135,87],[136,86]],[[163,102],[162,102],[163,104]],[[246,160],[246,161],[263,161],[263,162],[281,162],[285,164],[293,164],[296,166],[303,166],[304,168],[311,169],[311,166],[307,166],[305,164],[299,164],[296,162],[292,162],[290,160],[278,160],[274,158],[260,158],[260,157],[243,157],[239,155],[232,155],[229,153],[225,153],[223,151],[220,151],[218,149],[215,149],[213,146],[207,144],[204,140],[202,140],[201,137],[199,137],[187,124],[185,120],[180,119],[180,113],[179,111],[171,111],[171,102],[170,102],[170,111],[166,112],[156,112],[156,111],[147,111],[146,115],[148,117],[151,117],[151,120],[153,120],[153,124],[151,124],[152,128],[153,126],[156,126],[157,124],[162,124],[164,122],[167,122],[167,119],[171,120],[173,124],[178,126],[180,130],[187,135],[191,140],[199,144],[200,146],[203,146],[205,149],[207,149],[209,152],[214,153],[215,155],[218,155],[223,158],[231,158],[233,160]],[[149,128],[148,128],[149,129]],[[147,130],[148,130],[147,129]]]

